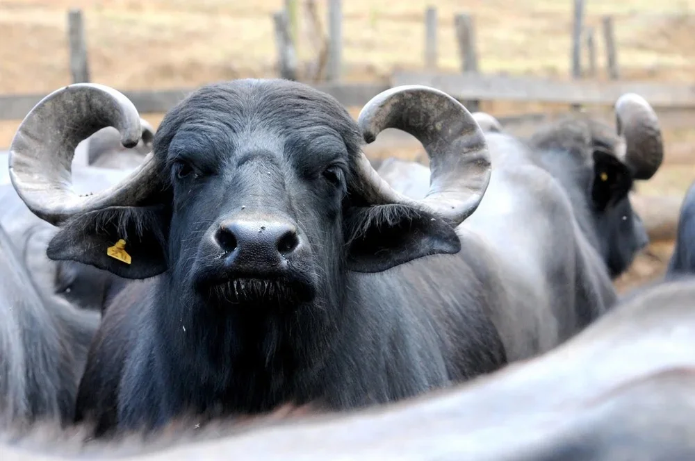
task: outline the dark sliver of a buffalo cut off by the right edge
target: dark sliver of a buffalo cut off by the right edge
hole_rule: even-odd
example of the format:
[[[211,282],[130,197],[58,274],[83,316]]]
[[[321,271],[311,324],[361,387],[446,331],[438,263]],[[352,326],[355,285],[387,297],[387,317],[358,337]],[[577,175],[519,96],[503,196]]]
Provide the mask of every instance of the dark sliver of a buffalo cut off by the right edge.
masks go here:
[[[666,269],[666,277],[695,274],[695,183],[688,187],[678,215],[676,245]]]

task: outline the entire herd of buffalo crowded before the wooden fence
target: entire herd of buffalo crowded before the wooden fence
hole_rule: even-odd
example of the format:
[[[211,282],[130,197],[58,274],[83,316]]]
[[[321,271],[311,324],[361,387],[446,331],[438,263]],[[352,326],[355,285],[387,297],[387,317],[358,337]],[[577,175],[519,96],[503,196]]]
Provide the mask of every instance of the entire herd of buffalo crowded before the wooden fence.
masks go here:
[[[52,92],[0,175],[3,460],[695,459],[695,186],[619,296],[664,147],[644,98],[614,113],[519,137],[430,87],[355,121],[240,79],[154,131]],[[387,128],[429,166],[375,169]]]

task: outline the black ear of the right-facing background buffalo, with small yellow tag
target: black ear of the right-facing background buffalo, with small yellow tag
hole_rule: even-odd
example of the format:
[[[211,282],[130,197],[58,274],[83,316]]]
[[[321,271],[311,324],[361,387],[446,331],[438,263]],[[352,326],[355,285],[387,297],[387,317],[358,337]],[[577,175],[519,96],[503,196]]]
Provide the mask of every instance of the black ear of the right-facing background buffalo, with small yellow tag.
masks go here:
[[[630,192],[632,173],[627,165],[603,151],[594,151],[594,181],[591,199],[603,211]]]

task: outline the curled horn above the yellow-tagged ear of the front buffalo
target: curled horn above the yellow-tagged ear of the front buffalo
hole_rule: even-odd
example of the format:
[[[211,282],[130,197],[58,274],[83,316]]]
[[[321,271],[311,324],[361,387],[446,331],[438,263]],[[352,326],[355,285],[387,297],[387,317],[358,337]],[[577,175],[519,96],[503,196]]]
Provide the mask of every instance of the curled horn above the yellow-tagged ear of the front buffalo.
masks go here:
[[[24,117],[9,153],[10,180],[26,206],[58,226],[72,215],[131,206],[156,187],[154,156],[106,190],[80,196],[72,190],[72,158],[81,140],[114,126],[125,147],[138,144],[140,116],[133,103],[111,87],[77,83],[44,97]]]

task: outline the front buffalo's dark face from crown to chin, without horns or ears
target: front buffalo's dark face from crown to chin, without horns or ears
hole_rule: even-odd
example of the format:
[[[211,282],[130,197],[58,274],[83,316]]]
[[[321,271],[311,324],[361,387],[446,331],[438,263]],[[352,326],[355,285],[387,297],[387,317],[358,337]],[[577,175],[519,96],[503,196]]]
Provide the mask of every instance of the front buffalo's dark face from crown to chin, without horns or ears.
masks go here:
[[[211,305],[283,309],[338,286],[360,139],[325,101],[270,92],[250,108],[234,102],[254,89],[217,91],[212,105],[202,92],[163,121],[156,155],[170,176],[170,242],[181,242],[168,260]]]

